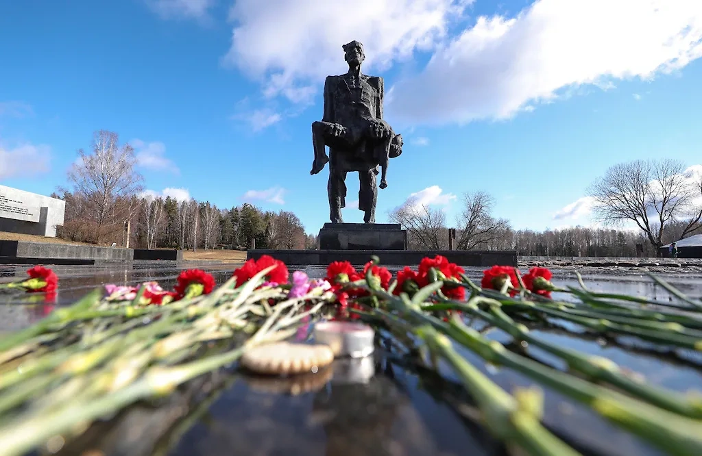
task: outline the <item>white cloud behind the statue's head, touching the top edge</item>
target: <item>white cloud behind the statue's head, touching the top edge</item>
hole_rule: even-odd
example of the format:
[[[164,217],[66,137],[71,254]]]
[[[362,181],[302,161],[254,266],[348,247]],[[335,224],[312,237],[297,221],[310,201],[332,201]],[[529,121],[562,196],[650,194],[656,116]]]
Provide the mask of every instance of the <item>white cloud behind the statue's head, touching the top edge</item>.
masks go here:
[[[430,51],[472,0],[238,0],[224,62],[264,80],[264,94],[305,102],[328,74],[345,72],[341,46],[364,43],[365,69]]]

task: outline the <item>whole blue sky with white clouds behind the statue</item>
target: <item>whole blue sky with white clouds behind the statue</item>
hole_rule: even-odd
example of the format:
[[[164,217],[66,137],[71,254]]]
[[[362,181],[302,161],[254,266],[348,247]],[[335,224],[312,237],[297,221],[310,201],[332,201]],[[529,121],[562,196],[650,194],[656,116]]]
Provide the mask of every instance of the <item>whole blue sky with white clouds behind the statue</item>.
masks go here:
[[[405,142],[378,222],[413,194],[453,222],[485,190],[518,229],[589,224],[585,188],[614,163],[702,163],[698,0],[35,0],[0,4],[0,182],[49,194],[107,129],[153,192],[316,233],[310,124],[352,39]]]

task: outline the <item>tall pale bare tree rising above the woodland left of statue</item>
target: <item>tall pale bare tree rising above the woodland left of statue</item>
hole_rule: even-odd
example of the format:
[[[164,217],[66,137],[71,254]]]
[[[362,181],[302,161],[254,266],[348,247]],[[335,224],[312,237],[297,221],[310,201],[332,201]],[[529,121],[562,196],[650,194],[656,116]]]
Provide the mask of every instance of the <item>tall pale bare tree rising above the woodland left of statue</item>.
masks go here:
[[[74,194],[84,197],[89,215],[95,222],[95,242],[99,243],[105,227],[124,226],[133,214],[133,206],[118,201],[133,201],[140,192],[143,178],[135,171],[136,157],[130,145],[119,145],[117,133],[100,130],[93,135],[92,151],[79,149],[79,159],[68,173]]]

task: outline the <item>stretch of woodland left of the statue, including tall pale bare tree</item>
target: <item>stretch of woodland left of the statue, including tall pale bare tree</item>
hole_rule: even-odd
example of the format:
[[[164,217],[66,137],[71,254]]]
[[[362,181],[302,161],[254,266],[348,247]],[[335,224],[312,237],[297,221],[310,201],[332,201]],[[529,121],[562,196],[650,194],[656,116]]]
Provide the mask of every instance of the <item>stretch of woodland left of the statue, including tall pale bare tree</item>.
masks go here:
[[[314,248],[294,213],[263,211],[244,203],[218,208],[210,201],[178,200],[144,192],[129,145],[100,130],[91,152],[79,150],[68,173],[71,188],[52,196],[66,201],[63,239],[138,248]]]

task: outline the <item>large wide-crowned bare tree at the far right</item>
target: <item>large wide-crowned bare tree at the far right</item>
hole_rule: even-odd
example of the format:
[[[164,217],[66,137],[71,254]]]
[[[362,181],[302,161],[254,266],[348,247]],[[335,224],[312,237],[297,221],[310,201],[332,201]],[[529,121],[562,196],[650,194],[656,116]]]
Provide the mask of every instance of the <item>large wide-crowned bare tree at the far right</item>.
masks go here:
[[[684,175],[681,161],[636,160],[611,166],[588,189],[597,220],[605,224],[634,222],[658,250],[670,222],[688,218],[681,236],[696,229],[702,210],[691,210],[696,189]]]

